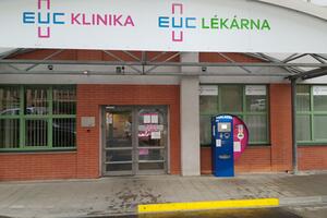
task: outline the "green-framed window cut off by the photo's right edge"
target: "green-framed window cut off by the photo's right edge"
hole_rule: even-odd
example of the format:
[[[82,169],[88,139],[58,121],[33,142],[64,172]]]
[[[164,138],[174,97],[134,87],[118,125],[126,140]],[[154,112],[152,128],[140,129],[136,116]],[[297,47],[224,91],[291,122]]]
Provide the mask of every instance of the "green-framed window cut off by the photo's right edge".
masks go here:
[[[296,86],[296,141],[327,143],[327,86]]]

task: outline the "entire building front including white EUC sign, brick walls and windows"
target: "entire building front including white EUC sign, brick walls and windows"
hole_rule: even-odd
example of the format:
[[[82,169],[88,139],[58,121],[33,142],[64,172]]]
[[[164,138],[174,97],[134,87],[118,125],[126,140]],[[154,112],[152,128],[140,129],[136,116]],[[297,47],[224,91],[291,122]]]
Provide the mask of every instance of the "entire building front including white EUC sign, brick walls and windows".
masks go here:
[[[250,131],[237,173],[327,169],[326,8],[0,4],[1,181],[210,174],[225,113]]]

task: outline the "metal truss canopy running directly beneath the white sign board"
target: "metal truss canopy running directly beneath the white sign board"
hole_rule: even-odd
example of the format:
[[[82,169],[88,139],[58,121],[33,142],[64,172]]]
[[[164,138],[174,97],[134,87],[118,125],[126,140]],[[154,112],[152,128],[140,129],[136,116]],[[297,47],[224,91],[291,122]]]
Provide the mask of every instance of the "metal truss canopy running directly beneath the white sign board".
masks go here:
[[[102,60],[65,59],[73,50],[14,49],[0,56],[0,74],[94,74],[94,75],[198,75],[198,76],[281,76],[313,78],[327,74],[327,56],[322,53],[243,53],[252,62],[240,62],[223,52],[202,52],[218,62],[179,61],[181,52],[90,51],[102,53]],[[28,57],[38,53],[38,60]],[[192,69],[180,71],[181,66]],[[193,70],[194,69],[194,70]]]

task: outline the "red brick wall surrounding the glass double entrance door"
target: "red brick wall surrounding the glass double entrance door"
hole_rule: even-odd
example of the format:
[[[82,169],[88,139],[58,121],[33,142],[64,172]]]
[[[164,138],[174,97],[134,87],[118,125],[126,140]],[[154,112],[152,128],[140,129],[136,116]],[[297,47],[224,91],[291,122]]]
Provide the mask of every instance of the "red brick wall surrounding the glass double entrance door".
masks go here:
[[[173,85],[77,85],[77,178],[98,178],[100,153],[100,107],[165,105],[170,110],[170,169],[181,170],[180,157],[180,96]],[[81,117],[95,117],[96,126],[81,128]]]

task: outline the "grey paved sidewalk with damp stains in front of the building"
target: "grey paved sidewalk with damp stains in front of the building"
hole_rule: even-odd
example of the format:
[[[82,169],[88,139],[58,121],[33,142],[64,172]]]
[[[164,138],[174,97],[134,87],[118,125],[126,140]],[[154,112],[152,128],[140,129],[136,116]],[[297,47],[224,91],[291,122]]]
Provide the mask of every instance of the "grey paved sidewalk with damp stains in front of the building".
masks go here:
[[[2,182],[0,217],[96,217],[135,214],[138,204],[280,198],[281,205],[327,203],[327,173],[291,175],[120,177],[98,180]]]

